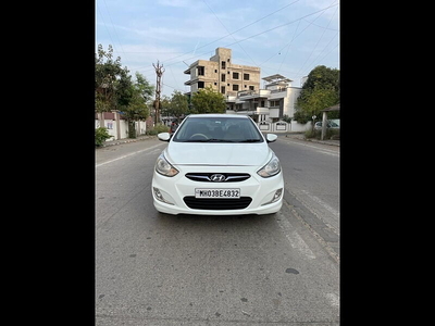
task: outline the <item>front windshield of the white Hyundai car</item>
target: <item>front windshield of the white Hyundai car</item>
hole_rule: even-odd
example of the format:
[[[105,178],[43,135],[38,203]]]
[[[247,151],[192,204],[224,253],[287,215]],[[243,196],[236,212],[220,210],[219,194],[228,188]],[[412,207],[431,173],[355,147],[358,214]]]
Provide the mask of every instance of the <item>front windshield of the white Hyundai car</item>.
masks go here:
[[[263,142],[263,137],[250,118],[189,116],[178,127],[173,141]]]

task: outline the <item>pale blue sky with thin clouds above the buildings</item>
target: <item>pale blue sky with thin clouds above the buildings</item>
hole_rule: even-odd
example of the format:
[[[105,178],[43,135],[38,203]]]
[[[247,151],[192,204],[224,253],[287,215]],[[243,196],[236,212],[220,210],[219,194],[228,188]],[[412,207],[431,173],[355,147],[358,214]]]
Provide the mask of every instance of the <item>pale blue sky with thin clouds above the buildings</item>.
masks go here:
[[[184,71],[232,49],[233,64],[259,66],[261,78],[281,74],[300,87],[315,66],[339,70],[339,0],[96,0],[98,45],[157,84],[162,95],[190,91]],[[263,88],[261,79],[260,87]]]

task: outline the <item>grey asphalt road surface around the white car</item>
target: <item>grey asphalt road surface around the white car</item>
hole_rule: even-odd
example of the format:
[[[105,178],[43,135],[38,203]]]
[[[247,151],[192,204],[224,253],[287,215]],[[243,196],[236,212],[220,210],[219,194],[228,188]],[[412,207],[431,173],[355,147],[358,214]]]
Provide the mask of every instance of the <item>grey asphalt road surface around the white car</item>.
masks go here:
[[[338,325],[339,148],[270,145],[275,215],[171,216],[150,192],[165,146],[96,150],[96,325]]]

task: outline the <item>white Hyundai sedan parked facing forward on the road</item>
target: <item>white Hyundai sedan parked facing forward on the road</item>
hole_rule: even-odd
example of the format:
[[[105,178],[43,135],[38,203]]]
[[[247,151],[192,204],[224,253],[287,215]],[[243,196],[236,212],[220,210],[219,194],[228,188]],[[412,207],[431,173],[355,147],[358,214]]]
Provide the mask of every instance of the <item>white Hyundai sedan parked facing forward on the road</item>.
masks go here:
[[[284,179],[278,158],[248,116],[191,114],[156,162],[152,197],[166,214],[272,214],[281,210]]]

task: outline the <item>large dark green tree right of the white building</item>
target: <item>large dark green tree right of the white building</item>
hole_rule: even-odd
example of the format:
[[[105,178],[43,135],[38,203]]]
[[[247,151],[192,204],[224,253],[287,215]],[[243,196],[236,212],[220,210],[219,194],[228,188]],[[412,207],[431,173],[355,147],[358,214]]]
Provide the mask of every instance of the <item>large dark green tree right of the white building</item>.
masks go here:
[[[294,117],[299,123],[303,123],[307,122],[307,117],[312,115],[320,117],[321,110],[338,103],[339,71],[319,65],[310,72],[307,82],[302,86],[296,102],[298,114],[295,114]]]

